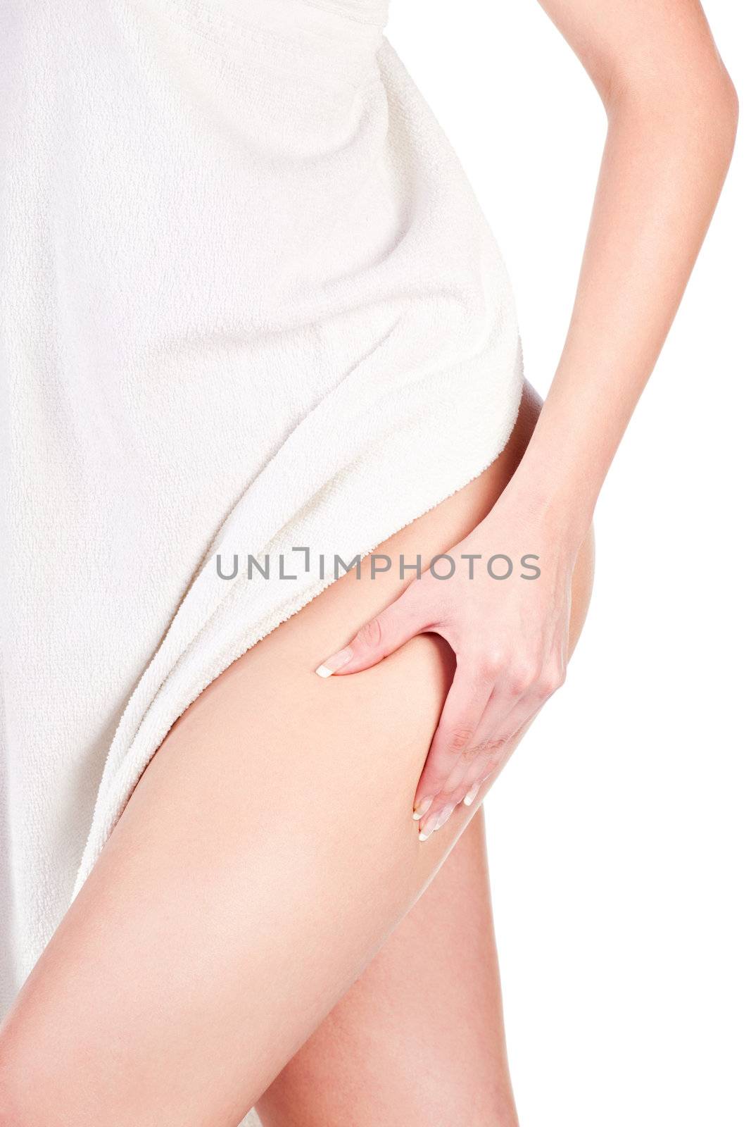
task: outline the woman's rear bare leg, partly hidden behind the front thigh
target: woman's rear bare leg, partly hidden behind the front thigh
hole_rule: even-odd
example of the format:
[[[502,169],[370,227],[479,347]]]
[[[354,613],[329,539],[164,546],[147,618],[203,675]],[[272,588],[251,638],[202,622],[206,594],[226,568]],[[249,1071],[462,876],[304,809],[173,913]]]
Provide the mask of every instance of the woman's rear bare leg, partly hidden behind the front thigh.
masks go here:
[[[482,807],[258,1110],[263,1127],[516,1127]]]

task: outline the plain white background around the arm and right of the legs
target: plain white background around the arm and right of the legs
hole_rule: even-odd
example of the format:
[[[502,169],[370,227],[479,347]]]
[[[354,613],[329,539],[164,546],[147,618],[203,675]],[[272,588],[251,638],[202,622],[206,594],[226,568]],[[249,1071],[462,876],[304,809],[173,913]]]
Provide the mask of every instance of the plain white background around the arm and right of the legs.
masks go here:
[[[485,804],[522,1127],[751,1125],[745,9],[705,3],[736,153],[600,498],[584,635]],[[393,0],[388,37],[493,227],[545,393],[599,99],[534,0]]]

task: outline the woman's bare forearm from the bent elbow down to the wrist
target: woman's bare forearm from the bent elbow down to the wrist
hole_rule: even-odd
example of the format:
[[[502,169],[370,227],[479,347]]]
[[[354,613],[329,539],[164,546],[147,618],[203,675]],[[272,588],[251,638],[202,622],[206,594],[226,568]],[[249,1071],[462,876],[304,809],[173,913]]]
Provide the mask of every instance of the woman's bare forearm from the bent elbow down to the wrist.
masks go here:
[[[589,526],[707,230],[736,103],[717,61],[694,82],[626,86],[608,118],[571,325],[509,487],[574,542]]]

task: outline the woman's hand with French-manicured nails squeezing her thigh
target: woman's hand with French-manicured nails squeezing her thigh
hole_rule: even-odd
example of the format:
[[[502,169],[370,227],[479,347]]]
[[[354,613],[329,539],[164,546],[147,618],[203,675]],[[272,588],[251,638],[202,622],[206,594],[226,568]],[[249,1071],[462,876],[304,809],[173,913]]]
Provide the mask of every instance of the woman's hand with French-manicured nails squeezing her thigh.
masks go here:
[[[421,841],[459,802],[472,805],[510,755],[516,734],[565,677],[579,543],[549,516],[530,518],[529,506],[507,492],[446,553],[450,560],[437,558],[316,669],[320,676],[359,673],[426,632],[454,650],[454,682],[414,797]]]

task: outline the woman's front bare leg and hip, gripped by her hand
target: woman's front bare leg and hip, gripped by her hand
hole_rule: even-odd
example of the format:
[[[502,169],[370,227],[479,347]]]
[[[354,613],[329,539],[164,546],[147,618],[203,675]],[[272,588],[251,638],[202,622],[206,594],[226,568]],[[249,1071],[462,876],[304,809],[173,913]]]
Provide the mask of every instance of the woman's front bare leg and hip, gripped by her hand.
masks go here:
[[[385,550],[462,539],[533,416],[527,402],[490,470]],[[350,573],[173,726],[0,1031],[8,1122],[235,1127],[415,903],[470,818],[424,843],[411,819],[453,655],[421,636],[354,677],[312,672],[400,586]]]

